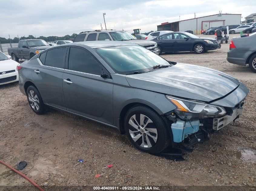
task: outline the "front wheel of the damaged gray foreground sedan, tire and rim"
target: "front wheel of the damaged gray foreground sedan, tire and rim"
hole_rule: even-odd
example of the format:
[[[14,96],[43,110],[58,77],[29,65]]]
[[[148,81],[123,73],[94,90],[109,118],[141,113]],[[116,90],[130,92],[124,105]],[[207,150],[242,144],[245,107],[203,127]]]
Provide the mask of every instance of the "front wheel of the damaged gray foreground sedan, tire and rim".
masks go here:
[[[143,115],[145,117],[143,117]],[[137,123],[134,120],[134,116],[136,121],[139,120],[138,123],[140,123],[141,119],[144,120],[143,124],[146,124],[145,131],[142,130],[141,132],[141,129],[144,126],[141,124],[138,124],[140,126],[136,125]],[[143,118],[140,119],[140,117]],[[152,123],[148,123],[148,120],[151,120]],[[136,148],[141,151],[148,153],[160,153],[170,144],[170,135],[166,128],[165,122],[163,121],[161,116],[158,115],[158,113],[156,113],[149,107],[142,105],[136,105],[132,107],[126,113],[124,123],[125,132],[128,139]],[[131,126],[129,123],[134,123],[137,128]],[[135,133],[131,133],[132,131],[135,131]],[[134,139],[137,140],[135,141]]]

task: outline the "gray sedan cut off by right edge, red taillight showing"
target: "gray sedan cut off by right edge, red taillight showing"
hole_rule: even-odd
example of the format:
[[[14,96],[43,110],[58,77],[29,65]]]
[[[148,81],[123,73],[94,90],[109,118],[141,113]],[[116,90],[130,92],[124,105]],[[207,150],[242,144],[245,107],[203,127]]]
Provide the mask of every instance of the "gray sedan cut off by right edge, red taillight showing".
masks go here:
[[[256,32],[245,37],[235,37],[229,45],[227,60],[238,65],[248,64],[251,71],[256,72]]]

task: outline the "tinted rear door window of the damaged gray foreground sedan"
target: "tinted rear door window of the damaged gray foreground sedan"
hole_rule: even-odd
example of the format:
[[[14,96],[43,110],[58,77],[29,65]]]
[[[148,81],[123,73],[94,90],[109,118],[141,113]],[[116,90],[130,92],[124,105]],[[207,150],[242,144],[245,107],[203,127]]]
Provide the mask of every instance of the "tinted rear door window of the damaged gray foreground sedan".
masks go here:
[[[66,48],[48,50],[45,58],[45,65],[55,68],[64,68]]]

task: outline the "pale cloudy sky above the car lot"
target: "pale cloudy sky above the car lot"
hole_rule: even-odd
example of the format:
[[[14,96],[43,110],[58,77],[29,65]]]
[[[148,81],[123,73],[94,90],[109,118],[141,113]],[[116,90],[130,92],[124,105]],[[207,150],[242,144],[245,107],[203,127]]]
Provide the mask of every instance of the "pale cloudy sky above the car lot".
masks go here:
[[[222,13],[256,12],[254,0],[0,0],[0,37],[64,36],[86,30],[157,30],[163,22]],[[242,20],[244,20],[242,18]]]

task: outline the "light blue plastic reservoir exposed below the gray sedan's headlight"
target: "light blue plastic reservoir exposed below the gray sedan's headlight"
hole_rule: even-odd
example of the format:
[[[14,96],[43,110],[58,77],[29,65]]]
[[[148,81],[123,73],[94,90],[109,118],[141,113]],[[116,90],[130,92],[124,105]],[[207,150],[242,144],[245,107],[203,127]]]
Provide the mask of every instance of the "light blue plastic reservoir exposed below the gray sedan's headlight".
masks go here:
[[[192,126],[191,126],[192,125]],[[200,126],[200,121],[192,120],[190,121],[182,121],[177,120],[176,123],[171,124],[171,131],[173,134],[173,142],[180,143],[184,140],[184,138],[188,137],[188,135],[198,132]]]

